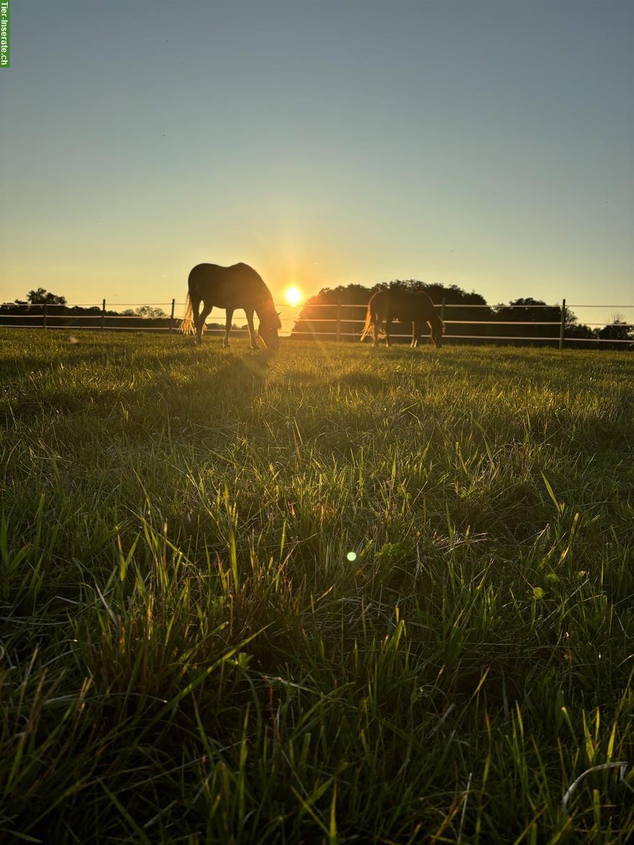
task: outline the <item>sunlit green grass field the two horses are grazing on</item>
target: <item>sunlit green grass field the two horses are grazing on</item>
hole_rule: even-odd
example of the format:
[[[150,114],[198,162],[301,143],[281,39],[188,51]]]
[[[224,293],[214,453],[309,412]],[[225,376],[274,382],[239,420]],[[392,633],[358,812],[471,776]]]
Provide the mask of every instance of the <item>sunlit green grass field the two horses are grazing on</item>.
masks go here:
[[[79,341],[0,334],[0,840],[631,837],[631,354]]]

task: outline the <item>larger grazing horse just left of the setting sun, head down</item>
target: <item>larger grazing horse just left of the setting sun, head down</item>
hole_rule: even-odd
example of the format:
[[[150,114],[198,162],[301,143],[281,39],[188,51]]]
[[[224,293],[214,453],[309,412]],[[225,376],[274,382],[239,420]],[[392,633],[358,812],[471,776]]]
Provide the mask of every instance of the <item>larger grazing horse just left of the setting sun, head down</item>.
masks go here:
[[[229,332],[236,308],[243,308],[247,316],[251,349],[258,348],[253,325],[254,312],[260,319],[258,334],[266,348],[277,349],[280,346],[277,330],[281,329],[281,322],[273,305],[271,291],[249,264],[233,264],[231,267],[196,264],[189,273],[188,287],[187,308],[181,331],[185,335],[195,332],[196,343],[202,343],[205,319],[209,316],[211,308],[216,306],[224,308],[227,313],[222,346],[229,346]],[[203,309],[198,313],[201,302]]]

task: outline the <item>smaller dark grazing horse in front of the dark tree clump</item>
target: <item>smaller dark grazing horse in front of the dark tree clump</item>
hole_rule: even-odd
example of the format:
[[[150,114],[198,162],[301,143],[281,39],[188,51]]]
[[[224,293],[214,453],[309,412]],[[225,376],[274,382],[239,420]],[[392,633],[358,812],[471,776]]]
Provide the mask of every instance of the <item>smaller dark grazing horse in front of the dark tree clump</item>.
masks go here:
[[[401,323],[412,321],[412,346],[418,346],[418,339],[423,334],[424,324],[427,323],[431,329],[434,346],[440,349],[445,324],[436,313],[434,303],[424,291],[407,291],[392,287],[374,293],[368,303],[368,313],[365,317],[361,340],[363,341],[372,331],[372,346],[376,346],[379,341],[379,332],[383,331],[385,343],[390,346],[393,319]]]

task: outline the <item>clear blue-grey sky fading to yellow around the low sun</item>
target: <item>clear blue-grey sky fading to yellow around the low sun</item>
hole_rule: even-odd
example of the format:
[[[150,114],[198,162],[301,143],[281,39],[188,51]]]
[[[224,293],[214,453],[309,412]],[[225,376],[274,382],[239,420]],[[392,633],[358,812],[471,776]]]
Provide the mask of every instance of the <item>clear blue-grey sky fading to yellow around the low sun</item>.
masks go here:
[[[183,302],[245,261],[277,301],[418,278],[634,322],[632,0],[11,11],[2,300]]]

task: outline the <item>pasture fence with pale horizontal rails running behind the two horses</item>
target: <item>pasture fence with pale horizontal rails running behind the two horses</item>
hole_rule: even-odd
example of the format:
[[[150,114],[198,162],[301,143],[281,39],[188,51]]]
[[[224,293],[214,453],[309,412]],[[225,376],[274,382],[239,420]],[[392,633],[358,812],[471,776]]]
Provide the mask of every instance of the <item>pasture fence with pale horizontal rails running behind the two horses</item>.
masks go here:
[[[43,329],[72,329],[72,330],[115,330],[115,331],[154,331],[154,332],[161,332],[163,334],[175,334],[178,332],[180,322],[183,319],[182,316],[177,315],[177,308],[180,311],[181,308],[185,308],[186,303],[177,303],[175,299],[172,299],[169,303],[116,303],[111,308],[149,308],[149,309],[157,309],[156,313],[121,313],[117,311],[108,311],[107,310],[107,303],[106,300],[103,299],[101,301],[101,306],[96,303],[73,303],[73,304],[49,304],[49,303],[42,303],[42,304],[33,304],[33,305],[22,305],[18,306],[14,303],[5,303],[5,305],[0,308],[0,325],[3,327],[11,327],[16,329],[26,329],[26,328],[43,328]],[[301,305],[291,306],[288,303],[276,303],[276,308],[283,308],[287,312],[295,312],[298,314],[297,317],[293,318],[282,318],[287,323],[294,323],[292,326],[292,330],[288,332],[290,338],[293,339],[294,336],[297,335],[309,335],[316,339],[321,338],[335,338],[337,341],[354,341],[358,340],[360,335],[363,331],[363,324],[365,320],[363,318],[355,318],[353,316],[346,316],[344,311],[345,309],[356,309],[357,313],[365,308],[366,306],[363,303],[303,303]],[[466,308],[485,308],[492,310],[492,307],[487,304],[481,303],[437,303],[436,308],[440,310],[441,319],[445,323],[445,326],[450,327],[452,325],[456,326],[553,326],[557,327],[559,331],[556,335],[551,336],[536,336],[536,335],[465,335],[465,334],[452,334],[450,331],[445,331],[444,340],[455,342],[455,341],[515,341],[515,342],[526,342],[526,341],[538,341],[538,342],[547,342],[547,343],[557,343],[559,348],[562,349],[564,343],[585,343],[588,346],[598,346],[603,343],[610,343],[610,344],[624,344],[624,345],[632,345],[634,343],[634,338],[629,337],[627,339],[617,339],[617,338],[599,338],[599,337],[571,337],[566,336],[566,329],[571,327],[571,324],[566,323],[566,299],[563,299],[561,303],[556,303],[554,305],[548,304],[541,304],[541,303],[527,303],[527,304],[498,304],[495,305],[495,309],[517,309],[518,311],[527,308],[530,308],[532,311],[537,309],[546,309],[549,308],[550,310],[557,309],[560,313],[560,319],[556,320],[466,320],[466,319],[451,319],[450,316],[447,315],[448,312],[451,312],[451,308],[459,308],[459,309],[466,309]],[[8,313],[8,308],[19,308],[21,313]],[[77,313],[76,309],[78,308],[87,308],[90,309],[90,313]],[[162,311],[163,308],[169,308],[170,313],[166,313]],[[316,316],[302,316],[303,308],[309,308],[311,312],[314,309],[317,309],[319,313],[319,309],[327,308],[330,309],[331,315],[326,317],[316,317]],[[613,313],[615,310],[619,309],[626,309],[630,310],[634,308],[634,305],[606,305],[604,303],[598,305],[588,305],[583,303],[577,303],[575,305],[569,306],[569,308],[611,308]],[[161,313],[162,312],[162,313]],[[518,314],[520,316],[520,314]],[[134,325],[126,325],[126,323],[130,320],[134,320]],[[8,322],[5,322],[8,321]],[[19,322],[22,321],[22,322]],[[123,321],[123,324],[122,324]],[[314,324],[323,324],[323,323],[330,323],[334,324],[333,330],[317,330],[314,327]],[[344,325],[345,324],[345,325]],[[572,324],[574,325],[574,324]],[[612,323],[591,323],[585,324],[588,327],[598,327],[598,326],[609,326],[609,325],[618,325],[624,326],[622,322],[612,322]],[[626,325],[626,329],[631,330],[631,325]],[[205,330],[210,333],[211,335],[221,335],[224,333],[224,328],[221,328],[217,322],[214,324],[205,324]],[[247,330],[246,327],[234,327],[232,328],[232,332],[234,335],[246,335]],[[405,338],[411,337],[410,332],[403,332],[403,333],[391,333],[391,337],[394,338]]]

